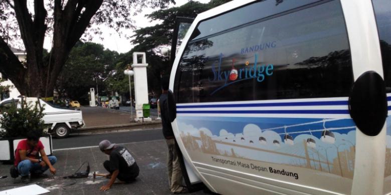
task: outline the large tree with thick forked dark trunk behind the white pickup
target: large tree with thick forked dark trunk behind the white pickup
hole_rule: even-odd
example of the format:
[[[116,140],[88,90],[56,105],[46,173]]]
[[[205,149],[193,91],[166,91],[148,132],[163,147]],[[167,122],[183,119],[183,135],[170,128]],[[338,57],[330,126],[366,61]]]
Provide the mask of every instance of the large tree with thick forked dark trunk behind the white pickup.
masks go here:
[[[0,72],[28,96],[52,96],[72,47],[83,34],[100,34],[99,25],[121,31],[132,28],[141,8],[166,7],[174,0],[0,0]],[[95,27],[94,27],[95,26]],[[96,27],[98,26],[98,27]],[[44,40],[53,37],[44,57]],[[8,43],[22,38],[23,64]]]

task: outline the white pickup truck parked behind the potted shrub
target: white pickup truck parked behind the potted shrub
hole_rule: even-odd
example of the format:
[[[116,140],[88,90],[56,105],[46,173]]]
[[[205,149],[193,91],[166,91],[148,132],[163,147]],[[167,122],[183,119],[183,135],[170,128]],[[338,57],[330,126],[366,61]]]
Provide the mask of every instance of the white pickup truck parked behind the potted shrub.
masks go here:
[[[84,126],[82,111],[78,109],[62,108],[57,105],[48,103],[37,97],[23,97],[27,104],[35,105],[38,102],[40,108],[44,109],[43,120],[49,124],[49,133],[53,133],[58,138],[65,138],[69,135],[71,130]],[[37,101],[39,100],[39,101]],[[0,112],[7,111],[11,106],[17,105],[21,107],[22,97],[7,98],[0,101]],[[0,117],[1,114],[0,113]]]

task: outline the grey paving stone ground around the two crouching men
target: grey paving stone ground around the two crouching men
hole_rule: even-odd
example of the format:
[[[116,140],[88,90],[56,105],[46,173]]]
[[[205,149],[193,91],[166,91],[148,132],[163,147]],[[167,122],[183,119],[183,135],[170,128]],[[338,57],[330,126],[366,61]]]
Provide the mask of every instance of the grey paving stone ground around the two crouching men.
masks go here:
[[[168,189],[167,167],[165,164],[167,152],[165,141],[134,142],[124,144],[124,146],[129,149],[140,167],[140,174],[136,181],[132,183],[115,183],[106,192],[99,191],[99,187],[108,182],[108,179],[102,177],[97,178],[95,182],[92,178],[40,178],[32,179],[32,183],[37,183],[49,189],[51,192],[48,194],[171,194]],[[55,176],[71,175],[84,161],[89,162],[91,172],[99,171],[106,173],[102,163],[108,159],[108,155],[102,153],[98,147],[57,150],[53,154],[58,159],[54,165],[57,169]],[[0,164],[0,175],[9,175],[10,166],[10,164]],[[84,166],[80,170],[85,171],[85,169],[86,167]],[[46,173],[50,175],[49,171]],[[16,181],[19,182],[20,177]],[[0,179],[0,191],[23,186],[22,184],[13,183],[13,178]],[[205,193],[199,191],[191,194]]]

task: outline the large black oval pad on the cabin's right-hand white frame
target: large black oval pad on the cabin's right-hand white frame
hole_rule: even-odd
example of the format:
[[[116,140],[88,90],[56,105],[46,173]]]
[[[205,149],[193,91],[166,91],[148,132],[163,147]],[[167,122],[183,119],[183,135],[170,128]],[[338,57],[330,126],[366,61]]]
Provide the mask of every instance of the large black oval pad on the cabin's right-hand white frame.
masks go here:
[[[387,95],[383,78],[375,71],[362,73],[349,95],[349,112],[366,135],[376,136],[387,117]]]

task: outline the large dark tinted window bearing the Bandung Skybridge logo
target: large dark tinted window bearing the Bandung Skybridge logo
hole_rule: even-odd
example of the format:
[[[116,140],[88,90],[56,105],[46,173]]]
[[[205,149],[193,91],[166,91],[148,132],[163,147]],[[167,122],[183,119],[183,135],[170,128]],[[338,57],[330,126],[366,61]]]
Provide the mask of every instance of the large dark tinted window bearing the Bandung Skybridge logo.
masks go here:
[[[353,73],[340,3],[192,41],[175,80],[178,102],[348,96]]]

